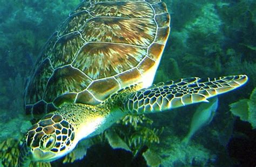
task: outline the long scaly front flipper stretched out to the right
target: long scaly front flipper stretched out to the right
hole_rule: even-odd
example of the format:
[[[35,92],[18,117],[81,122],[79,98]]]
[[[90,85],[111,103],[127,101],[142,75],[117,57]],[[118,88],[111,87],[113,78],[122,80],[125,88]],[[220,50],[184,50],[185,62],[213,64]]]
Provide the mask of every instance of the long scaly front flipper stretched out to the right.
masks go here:
[[[200,79],[181,79],[177,82],[160,83],[132,93],[123,103],[124,109],[134,114],[154,113],[207,102],[208,98],[232,91],[246,83],[246,75]]]

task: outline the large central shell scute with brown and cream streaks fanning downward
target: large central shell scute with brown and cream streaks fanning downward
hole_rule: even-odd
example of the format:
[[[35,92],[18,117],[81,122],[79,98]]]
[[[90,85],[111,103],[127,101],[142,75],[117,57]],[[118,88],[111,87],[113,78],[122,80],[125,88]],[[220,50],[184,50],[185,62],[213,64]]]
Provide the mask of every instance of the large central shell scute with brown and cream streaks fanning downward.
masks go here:
[[[89,43],[80,50],[73,66],[97,80],[138,65],[147,48],[110,43]]]

